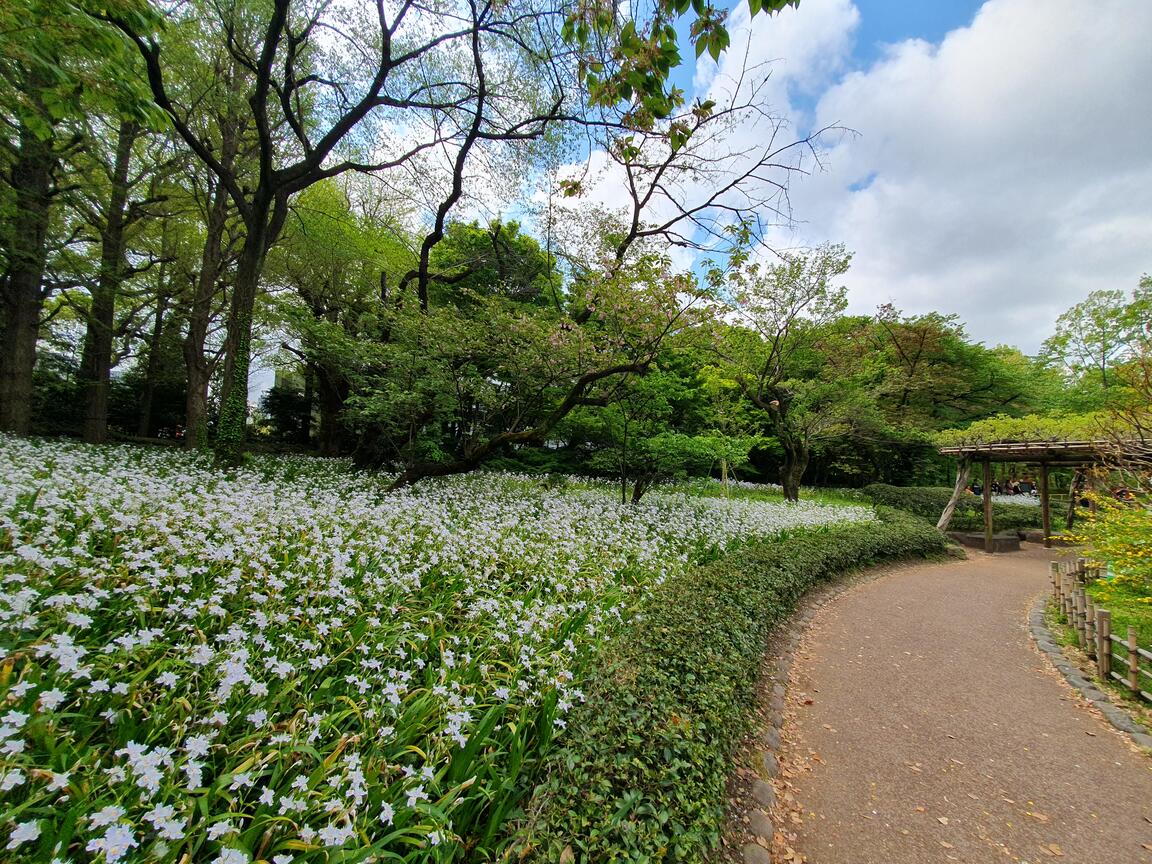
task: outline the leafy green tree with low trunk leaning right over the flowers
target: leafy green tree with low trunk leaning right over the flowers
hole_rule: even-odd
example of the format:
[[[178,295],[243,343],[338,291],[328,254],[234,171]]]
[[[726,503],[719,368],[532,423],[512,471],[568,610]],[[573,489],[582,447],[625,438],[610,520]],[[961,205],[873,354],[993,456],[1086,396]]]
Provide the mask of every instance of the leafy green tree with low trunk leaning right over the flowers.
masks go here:
[[[598,303],[582,324],[499,295],[393,310],[377,372],[349,400],[359,429],[374,430],[362,457],[402,464],[402,486],[543,444],[576,408],[612,402],[621,379],[646,372],[664,340],[704,313],[695,280],[657,256],[588,287]]]

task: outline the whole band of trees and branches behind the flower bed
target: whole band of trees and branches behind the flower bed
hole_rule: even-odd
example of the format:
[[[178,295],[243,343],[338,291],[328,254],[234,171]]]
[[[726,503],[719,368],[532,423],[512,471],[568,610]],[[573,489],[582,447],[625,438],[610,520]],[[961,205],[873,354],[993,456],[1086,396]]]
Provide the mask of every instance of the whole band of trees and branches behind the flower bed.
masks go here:
[[[0,430],[794,498],[923,482],[941,429],[1127,392],[1146,282],[1028,358],[952,317],[847,316],[840,247],[766,249],[838,130],[789,137],[756,70],[688,104],[685,15],[719,56],[723,15],[670,0],[6,5]],[[252,417],[255,355],[281,374]]]

